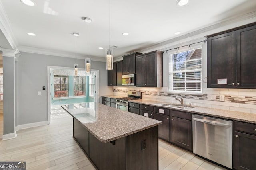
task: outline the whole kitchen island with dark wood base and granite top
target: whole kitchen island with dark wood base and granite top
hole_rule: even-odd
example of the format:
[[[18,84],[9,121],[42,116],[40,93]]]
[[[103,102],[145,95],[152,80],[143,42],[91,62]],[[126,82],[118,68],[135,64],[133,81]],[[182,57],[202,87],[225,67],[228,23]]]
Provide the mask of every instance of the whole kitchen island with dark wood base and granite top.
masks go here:
[[[73,117],[73,138],[99,170],[158,170],[161,121],[102,104],[62,106]]]

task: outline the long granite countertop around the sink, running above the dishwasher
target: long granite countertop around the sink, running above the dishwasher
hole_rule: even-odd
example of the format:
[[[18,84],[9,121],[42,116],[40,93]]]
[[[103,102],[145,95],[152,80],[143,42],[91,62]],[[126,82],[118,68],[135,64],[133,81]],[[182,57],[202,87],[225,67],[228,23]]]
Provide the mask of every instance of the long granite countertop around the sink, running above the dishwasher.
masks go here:
[[[231,120],[256,124],[256,114],[254,113],[244,113],[239,111],[212,109],[212,108],[198,107],[198,106],[195,106],[194,108],[189,108],[189,109],[179,109],[179,108],[173,108],[173,107],[161,105],[168,102],[160,102],[160,101],[144,100],[144,99],[130,100],[129,102],[138,103],[138,104],[147,104],[147,105],[156,106],[156,107],[164,107],[168,109],[186,111],[186,112],[196,113],[200,115],[220,117],[223,119],[231,119]]]

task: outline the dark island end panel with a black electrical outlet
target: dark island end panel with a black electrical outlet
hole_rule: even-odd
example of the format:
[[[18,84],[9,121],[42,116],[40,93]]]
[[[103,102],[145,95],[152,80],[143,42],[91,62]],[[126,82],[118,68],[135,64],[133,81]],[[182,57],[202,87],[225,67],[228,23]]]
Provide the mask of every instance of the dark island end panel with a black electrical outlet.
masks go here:
[[[126,170],[136,169],[158,170],[158,126],[126,137]]]

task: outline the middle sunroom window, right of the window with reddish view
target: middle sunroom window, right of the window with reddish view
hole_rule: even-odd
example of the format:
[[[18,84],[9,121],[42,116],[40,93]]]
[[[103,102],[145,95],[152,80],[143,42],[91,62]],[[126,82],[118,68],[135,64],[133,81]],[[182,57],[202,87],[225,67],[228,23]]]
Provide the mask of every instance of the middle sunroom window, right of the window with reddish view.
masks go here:
[[[74,76],[74,96],[85,96],[85,76]]]

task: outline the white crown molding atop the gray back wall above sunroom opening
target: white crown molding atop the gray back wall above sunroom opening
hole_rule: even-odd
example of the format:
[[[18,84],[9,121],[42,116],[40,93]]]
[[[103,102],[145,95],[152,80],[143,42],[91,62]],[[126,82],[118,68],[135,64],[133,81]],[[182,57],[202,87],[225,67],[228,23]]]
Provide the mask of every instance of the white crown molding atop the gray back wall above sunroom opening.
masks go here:
[[[42,55],[52,55],[52,56],[77,58],[77,59],[87,58],[87,55],[68,53],[68,52],[58,51],[58,50],[41,49],[41,48],[28,47],[28,46],[19,46],[18,49],[26,53],[36,53],[36,54],[42,54]],[[89,56],[89,58],[92,61],[102,61],[102,62],[105,61],[104,57]]]

